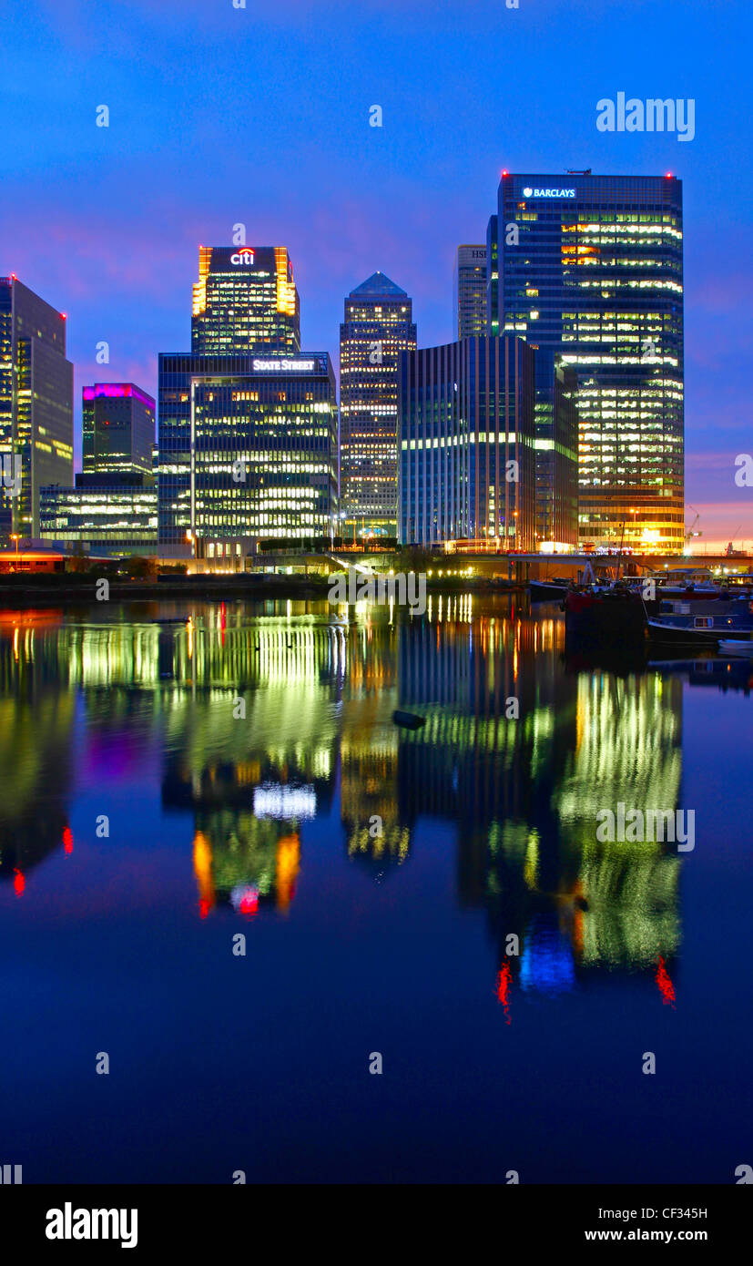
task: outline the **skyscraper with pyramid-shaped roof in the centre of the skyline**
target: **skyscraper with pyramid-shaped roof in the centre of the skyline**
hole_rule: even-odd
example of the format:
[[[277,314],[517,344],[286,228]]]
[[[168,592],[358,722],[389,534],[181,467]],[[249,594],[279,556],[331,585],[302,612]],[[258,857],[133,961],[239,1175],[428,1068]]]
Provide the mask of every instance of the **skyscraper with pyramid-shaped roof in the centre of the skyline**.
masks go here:
[[[413,304],[375,272],[340,325],[340,505],[349,538],[397,534],[397,368],[415,351]]]

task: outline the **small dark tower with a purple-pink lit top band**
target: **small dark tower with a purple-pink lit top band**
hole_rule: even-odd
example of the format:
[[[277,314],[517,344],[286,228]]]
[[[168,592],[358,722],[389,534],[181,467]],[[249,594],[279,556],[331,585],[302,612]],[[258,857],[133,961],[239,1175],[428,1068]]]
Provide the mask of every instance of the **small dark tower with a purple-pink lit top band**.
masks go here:
[[[152,396],[133,382],[84,387],[84,472],[151,475],[154,414]]]

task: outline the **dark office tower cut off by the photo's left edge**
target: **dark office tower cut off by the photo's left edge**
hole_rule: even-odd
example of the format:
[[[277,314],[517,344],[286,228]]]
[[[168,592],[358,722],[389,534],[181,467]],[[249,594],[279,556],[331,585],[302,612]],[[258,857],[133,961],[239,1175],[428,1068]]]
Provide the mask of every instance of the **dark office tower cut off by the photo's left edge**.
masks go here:
[[[39,489],[73,479],[73,366],[66,316],[0,277],[0,533],[39,537]]]

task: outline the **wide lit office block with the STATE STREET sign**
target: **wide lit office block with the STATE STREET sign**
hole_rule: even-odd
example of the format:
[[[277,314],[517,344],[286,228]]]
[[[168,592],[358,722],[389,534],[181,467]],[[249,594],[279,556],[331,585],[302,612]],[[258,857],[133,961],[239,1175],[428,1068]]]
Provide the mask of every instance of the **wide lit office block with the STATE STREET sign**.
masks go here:
[[[330,537],[335,514],[327,352],[159,357],[161,543],[234,560],[259,537]]]

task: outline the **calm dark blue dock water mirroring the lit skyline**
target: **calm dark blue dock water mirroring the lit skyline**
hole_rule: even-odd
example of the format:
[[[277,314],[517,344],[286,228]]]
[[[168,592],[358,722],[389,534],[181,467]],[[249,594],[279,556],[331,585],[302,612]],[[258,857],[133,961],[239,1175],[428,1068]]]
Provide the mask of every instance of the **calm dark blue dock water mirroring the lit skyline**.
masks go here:
[[[0,618],[0,1160],[225,1184],[753,1163],[747,662],[613,671],[504,599],[190,610]],[[692,809],[695,849],[597,842],[620,801]]]

